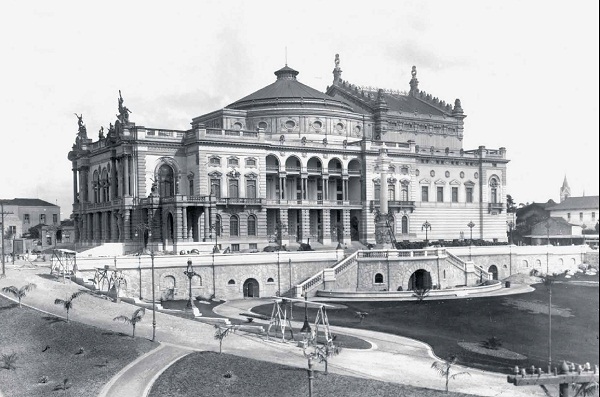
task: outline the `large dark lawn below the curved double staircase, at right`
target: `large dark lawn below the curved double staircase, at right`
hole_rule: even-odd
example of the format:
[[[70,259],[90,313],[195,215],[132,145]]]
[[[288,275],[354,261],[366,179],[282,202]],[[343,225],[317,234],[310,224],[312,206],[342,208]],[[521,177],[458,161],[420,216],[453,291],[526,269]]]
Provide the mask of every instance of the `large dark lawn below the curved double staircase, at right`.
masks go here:
[[[575,281],[597,281],[582,276]],[[552,362],[577,363],[599,360],[598,284],[581,285],[573,279],[560,279],[553,287]],[[515,365],[546,368],[548,365],[548,291],[534,285],[526,294],[454,300],[417,302],[349,302],[348,309],[328,311],[329,322],[351,328],[363,328],[407,336],[432,346],[435,354],[446,358],[456,355],[472,367],[509,373]],[[518,303],[526,302],[527,305]],[[539,310],[531,311],[530,308]],[[268,306],[253,309],[265,314]],[[308,309],[309,320],[315,317]],[[362,324],[356,311],[368,312]],[[557,314],[558,313],[558,314]],[[459,342],[478,343],[500,338],[502,347],[527,356],[510,360],[470,352]]]

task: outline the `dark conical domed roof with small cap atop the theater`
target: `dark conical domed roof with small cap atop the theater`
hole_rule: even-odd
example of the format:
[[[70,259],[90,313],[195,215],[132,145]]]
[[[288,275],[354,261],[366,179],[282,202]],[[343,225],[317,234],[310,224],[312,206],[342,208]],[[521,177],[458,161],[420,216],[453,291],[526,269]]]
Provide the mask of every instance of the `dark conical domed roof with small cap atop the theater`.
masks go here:
[[[227,106],[229,109],[252,109],[258,107],[324,107],[352,111],[350,105],[315,90],[296,80],[298,71],[285,65],[275,72],[273,84],[245,96]]]

